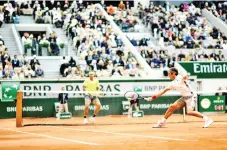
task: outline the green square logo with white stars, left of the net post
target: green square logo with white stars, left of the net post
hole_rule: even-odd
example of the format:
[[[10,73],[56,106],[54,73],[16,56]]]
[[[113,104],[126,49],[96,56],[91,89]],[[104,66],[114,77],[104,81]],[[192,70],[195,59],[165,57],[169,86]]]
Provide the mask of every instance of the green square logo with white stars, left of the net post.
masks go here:
[[[16,99],[17,91],[20,88],[20,82],[4,81],[1,83],[2,102],[9,102]]]

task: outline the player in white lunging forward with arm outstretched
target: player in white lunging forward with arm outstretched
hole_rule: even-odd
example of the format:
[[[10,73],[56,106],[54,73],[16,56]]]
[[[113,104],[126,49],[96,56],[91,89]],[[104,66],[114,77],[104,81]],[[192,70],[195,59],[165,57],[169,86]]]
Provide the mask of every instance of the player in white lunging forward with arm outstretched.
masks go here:
[[[203,118],[204,120],[204,128],[209,127],[213,120],[208,118],[207,116],[201,114],[200,112],[194,111],[194,107],[196,105],[197,101],[197,95],[192,90],[191,86],[188,84],[188,76],[181,76],[178,75],[178,70],[176,68],[170,68],[168,72],[168,76],[171,80],[173,80],[169,86],[167,86],[164,90],[160,91],[159,93],[153,95],[150,98],[147,98],[146,100],[152,101],[160,96],[162,96],[164,93],[170,90],[176,90],[180,92],[181,98],[176,100],[166,111],[164,118],[158,121],[157,124],[155,124],[154,128],[161,128],[165,125],[166,120],[173,114],[173,112],[177,109],[183,108],[186,106],[186,111],[188,115]]]

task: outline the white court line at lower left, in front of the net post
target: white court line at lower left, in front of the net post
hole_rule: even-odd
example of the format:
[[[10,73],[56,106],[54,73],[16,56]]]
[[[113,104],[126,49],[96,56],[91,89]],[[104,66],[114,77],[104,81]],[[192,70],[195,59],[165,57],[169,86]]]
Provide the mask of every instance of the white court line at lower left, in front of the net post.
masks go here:
[[[46,138],[50,138],[50,139],[56,139],[56,140],[62,140],[62,141],[68,141],[68,142],[80,143],[80,144],[86,144],[86,145],[100,145],[100,144],[96,144],[96,143],[66,139],[66,138],[55,137],[55,136],[44,135],[44,134],[38,134],[38,133],[32,133],[32,132],[25,132],[25,131],[10,129],[10,128],[0,128],[0,130],[8,130],[8,131],[13,131],[13,132],[18,132],[18,133],[23,133],[23,134],[28,134],[28,135],[35,135],[35,136],[46,137]]]

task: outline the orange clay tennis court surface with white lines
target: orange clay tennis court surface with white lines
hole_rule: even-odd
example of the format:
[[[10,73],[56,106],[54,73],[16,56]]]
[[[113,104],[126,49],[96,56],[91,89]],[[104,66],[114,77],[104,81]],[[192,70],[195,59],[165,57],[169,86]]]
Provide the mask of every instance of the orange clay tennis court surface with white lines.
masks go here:
[[[16,128],[15,119],[2,119],[0,149],[227,149],[227,115],[209,115],[214,122],[173,115],[165,128],[152,128],[162,116],[127,118],[97,117],[96,124],[83,125],[83,118],[24,118]]]

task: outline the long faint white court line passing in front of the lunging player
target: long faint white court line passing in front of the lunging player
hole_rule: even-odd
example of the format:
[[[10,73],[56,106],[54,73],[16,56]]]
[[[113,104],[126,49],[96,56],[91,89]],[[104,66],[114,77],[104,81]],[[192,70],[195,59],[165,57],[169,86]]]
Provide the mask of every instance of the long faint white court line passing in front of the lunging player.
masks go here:
[[[100,130],[95,130],[94,131],[94,130],[75,129],[75,128],[63,128],[63,127],[54,127],[54,128],[61,128],[61,129],[75,130],[75,131],[84,131],[84,132],[93,132],[93,133],[115,134],[115,135],[131,136],[131,137],[143,137],[143,138],[152,138],[152,139],[164,139],[164,140],[171,140],[171,141],[186,141],[186,142],[197,142],[198,141],[198,140],[186,140],[186,139],[168,138],[168,137],[162,137],[162,136],[139,135],[139,134],[110,132],[110,131],[100,131]]]

